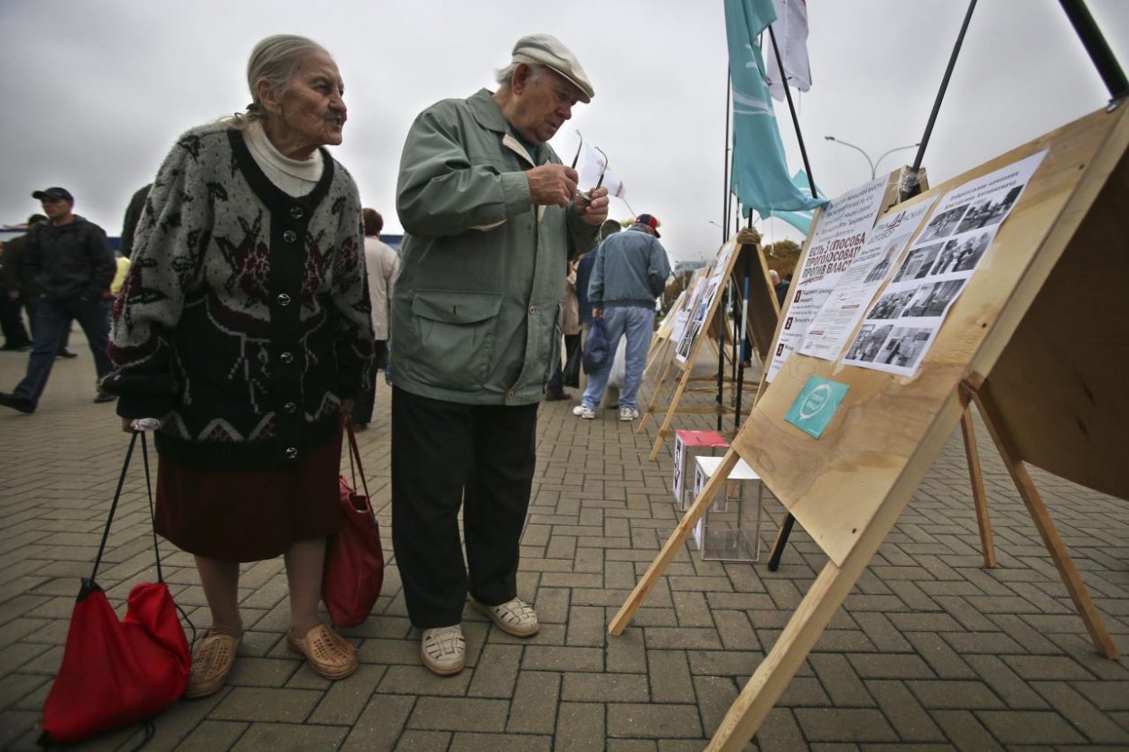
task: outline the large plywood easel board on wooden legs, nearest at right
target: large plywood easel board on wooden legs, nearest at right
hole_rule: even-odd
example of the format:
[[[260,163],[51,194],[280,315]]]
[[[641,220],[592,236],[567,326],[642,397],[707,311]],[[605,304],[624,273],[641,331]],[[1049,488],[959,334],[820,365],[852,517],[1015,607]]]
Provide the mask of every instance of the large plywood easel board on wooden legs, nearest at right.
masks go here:
[[[911,202],[1042,149],[1049,154],[992,242],[990,264],[969,280],[917,375],[835,370],[830,361],[793,356],[613,618],[609,631],[619,635],[738,457],[828,554],[708,750],[738,750],[756,733],[970,401],[982,411],[1094,645],[1106,657],[1118,655],[1023,463],[1129,499],[1121,440],[1129,417],[1122,384],[1129,366],[1129,107],[1088,115]],[[1088,314],[1085,326],[1082,313]],[[782,420],[811,375],[849,385],[819,440]]]

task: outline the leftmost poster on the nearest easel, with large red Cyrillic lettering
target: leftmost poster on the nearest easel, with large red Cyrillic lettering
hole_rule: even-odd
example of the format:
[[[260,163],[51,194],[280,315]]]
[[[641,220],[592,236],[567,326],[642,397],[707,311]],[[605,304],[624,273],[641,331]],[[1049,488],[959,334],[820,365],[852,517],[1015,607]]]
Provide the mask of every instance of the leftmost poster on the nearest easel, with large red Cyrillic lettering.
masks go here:
[[[786,301],[780,338],[772,351],[765,381],[772,382],[803,343],[815,315],[866,243],[885,192],[886,178],[881,177],[848,191],[824,207],[804,263],[796,268],[791,299]]]

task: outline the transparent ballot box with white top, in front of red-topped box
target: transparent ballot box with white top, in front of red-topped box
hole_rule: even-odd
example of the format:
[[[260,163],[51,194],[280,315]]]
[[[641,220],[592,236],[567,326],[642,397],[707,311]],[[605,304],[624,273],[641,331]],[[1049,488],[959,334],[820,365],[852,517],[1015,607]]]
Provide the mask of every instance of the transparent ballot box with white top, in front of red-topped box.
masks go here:
[[[721,457],[699,456],[694,460],[691,504],[701,496],[720,464]],[[729,472],[729,480],[694,526],[694,542],[703,560],[760,561],[763,491],[760,475],[744,460],[738,460]]]

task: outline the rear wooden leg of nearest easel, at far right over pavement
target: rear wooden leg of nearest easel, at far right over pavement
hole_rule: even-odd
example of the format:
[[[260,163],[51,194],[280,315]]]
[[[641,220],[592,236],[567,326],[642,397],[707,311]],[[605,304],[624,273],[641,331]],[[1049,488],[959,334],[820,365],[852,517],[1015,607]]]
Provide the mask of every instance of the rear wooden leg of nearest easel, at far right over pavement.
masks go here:
[[[1015,488],[1023,498],[1023,502],[1027,506],[1027,511],[1035,523],[1035,530],[1039,531],[1039,535],[1043,539],[1043,545],[1047,546],[1054,567],[1059,570],[1062,584],[1066,585],[1066,589],[1070,594],[1070,600],[1074,601],[1074,607],[1086,624],[1089,638],[1094,641],[1094,646],[1099,653],[1111,661],[1115,661],[1118,658],[1118,648],[1113,644],[1110,632],[1105,629],[1102,615],[1089,598],[1089,593],[1086,591],[1082,577],[1078,575],[1078,569],[1070,559],[1070,553],[1062,543],[1062,539],[1059,537],[1058,531],[1054,530],[1054,523],[1051,522],[1047,506],[1039,496],[1039,490],[1035,489],[1034,481],[1031,480],[1027,469],[1023,465],[1018,449],[1012,443],[1012,437],[1003,429],[1004,421],[1000,419],[999,409],[996,406],[996,401],[992,397],[990,383],[980,376],[977,376],[977,382],[970,383],[972,399],[975,401],[977,406],[980,408],[980,414],[988,426],[988,432],[991,434],[992,440],[996,443],[996,448],[1004,460],[1004,465],[1007,467],[1007,472],[1010,473],[1012,480],[1015,482]]]

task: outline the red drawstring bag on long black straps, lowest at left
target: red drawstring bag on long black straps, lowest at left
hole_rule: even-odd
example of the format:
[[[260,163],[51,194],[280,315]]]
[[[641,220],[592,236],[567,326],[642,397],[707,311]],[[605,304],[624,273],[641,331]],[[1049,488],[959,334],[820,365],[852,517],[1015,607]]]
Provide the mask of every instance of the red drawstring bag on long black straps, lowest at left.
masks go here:
[[[152,515],[145,434],[134,431],[94,571],[89,579],[82,580],[71,613],[62,665],[43,705],[41,743],[44,745],[78,742],[145,720],[178,700],[189,685],[192,655],[176,604],[161,576],[157,533],[152,535],[157,582],[133,587],[124,620],[117,620],[105,592],[95,582],[138,436],[141,436],[149,514]]]

